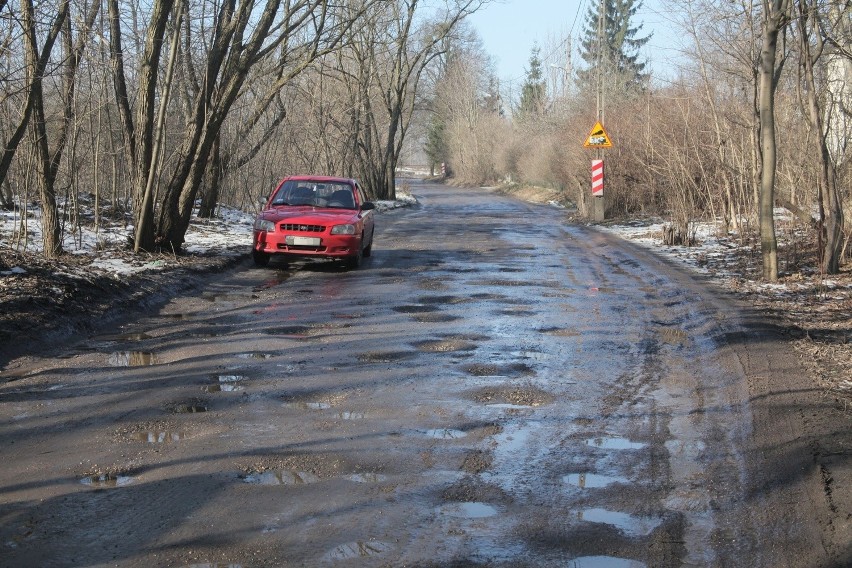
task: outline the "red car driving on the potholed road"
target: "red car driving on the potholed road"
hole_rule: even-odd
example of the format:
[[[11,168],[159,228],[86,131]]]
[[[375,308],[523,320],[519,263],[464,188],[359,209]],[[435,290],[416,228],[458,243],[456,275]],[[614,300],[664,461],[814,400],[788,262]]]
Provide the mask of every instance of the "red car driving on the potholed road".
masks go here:
[[[373,209],[354,179],[288,177],[254,222],[254,263],[266,266],[276,255],[284,261],[330,258],[357,268],[373,250]]]

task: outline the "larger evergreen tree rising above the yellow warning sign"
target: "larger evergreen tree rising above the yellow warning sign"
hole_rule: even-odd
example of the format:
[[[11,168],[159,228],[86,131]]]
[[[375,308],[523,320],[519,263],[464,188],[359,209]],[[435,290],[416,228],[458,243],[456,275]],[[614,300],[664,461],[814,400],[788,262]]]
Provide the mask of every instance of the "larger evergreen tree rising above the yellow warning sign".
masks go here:
[[[577,72],[581,89],[594,90],[598,66],[608,92],[637,92],[648,82],[647,64],[639,60],[639,50],[651,39],[638,37],[642,24],[633,25],[642,0],[602,0],[606,9],[602,40],[598,38],[601,3],[590,4],[586,13],[580,56],[587,68]]]

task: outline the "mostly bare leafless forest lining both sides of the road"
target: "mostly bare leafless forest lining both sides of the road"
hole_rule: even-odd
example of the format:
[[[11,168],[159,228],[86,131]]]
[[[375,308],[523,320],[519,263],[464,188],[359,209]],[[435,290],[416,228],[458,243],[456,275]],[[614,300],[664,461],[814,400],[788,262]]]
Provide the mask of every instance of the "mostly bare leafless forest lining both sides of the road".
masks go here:
[[[605,118],[607,216],[660,216],[671,243],[708,220],[753,236],[769,281],[779,241],[837,273],[852,8],[667,1],[673,77],[647,70],[641,1],[602,0],[512,90],[467,21],[487,0],[0,0],[0,208],[20,213],[0,247],[58,258],[80,227],[123,220],[134,251],[177,253],[194,215],[254,211],[287,174],[392,199],[421,155],[453,183],[543,185],[590,215],[582,139]]]

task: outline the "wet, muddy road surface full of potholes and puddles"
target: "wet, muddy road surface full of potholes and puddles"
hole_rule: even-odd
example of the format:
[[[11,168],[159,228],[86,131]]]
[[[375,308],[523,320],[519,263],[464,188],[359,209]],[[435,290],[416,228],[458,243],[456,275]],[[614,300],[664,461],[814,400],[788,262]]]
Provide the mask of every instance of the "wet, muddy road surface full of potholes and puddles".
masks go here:
[[[0,565],[829,565],[758,324],[562,210],[413,193],[358,270],[7,365]]]

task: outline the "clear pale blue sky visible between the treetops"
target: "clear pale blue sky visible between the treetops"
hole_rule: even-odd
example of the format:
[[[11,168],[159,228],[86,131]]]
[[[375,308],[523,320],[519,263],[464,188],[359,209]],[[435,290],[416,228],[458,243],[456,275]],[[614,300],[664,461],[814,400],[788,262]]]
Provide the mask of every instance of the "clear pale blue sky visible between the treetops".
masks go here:
[[[534,45],[542,51],[548,70],[565,67],[569,33],[574,40],[574,65],[580,63],[577,44],[589,2],[597,0],[496,0],[470,16],[470,24],[482,38],[485,50],[497,64],[497,76],[504,84],[519,85],[529,66]],[[643,52],[655,75],[671,75],[672,58],[677,55],[677,41],[672,25],[667,22],[661,0],[645,0],[637,14],[642,35],[653,32]],[[553,69],[551,73],[557,73]]]

